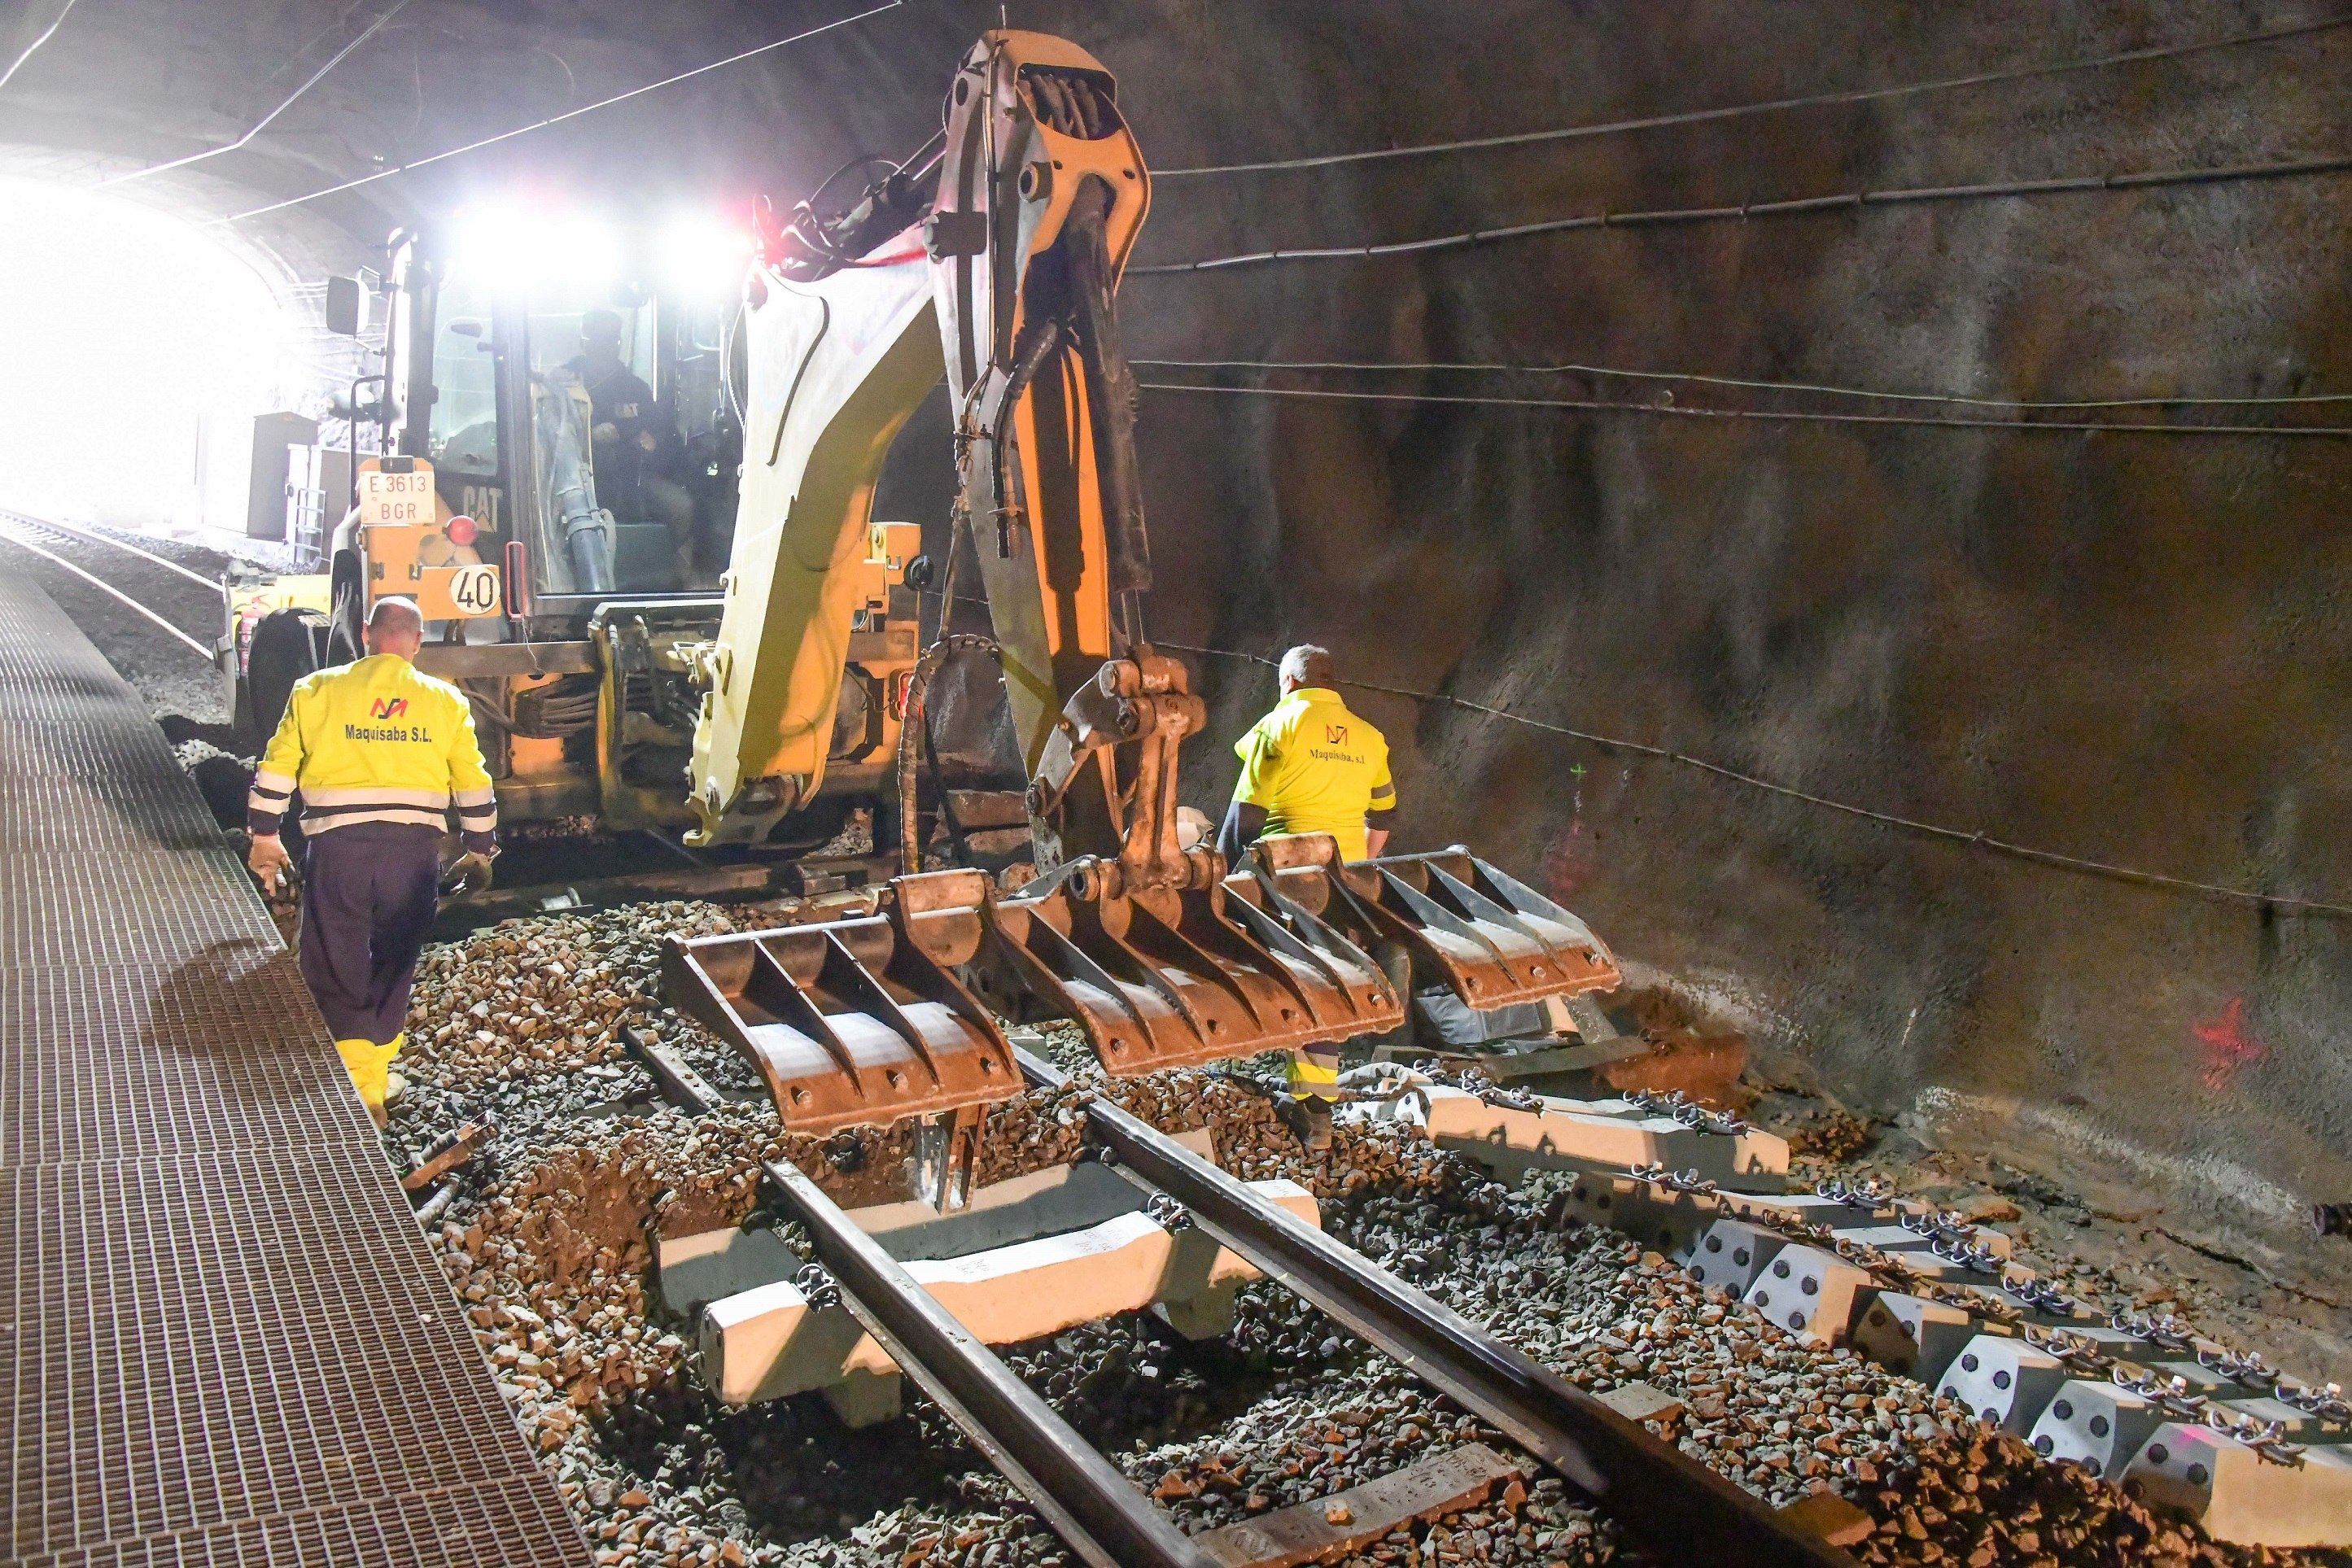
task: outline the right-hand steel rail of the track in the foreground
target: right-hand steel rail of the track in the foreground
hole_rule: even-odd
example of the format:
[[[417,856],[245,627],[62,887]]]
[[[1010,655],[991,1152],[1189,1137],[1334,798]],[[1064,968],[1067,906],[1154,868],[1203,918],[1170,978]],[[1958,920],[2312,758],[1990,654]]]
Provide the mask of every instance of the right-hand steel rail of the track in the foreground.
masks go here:
[[[1663,1561],[1853,1568],[1837,1547],[1108,1100],[1089,1100],[1087,1138],[1129,1182],[1183,1204],[1270,1279],[1592,1495]]]

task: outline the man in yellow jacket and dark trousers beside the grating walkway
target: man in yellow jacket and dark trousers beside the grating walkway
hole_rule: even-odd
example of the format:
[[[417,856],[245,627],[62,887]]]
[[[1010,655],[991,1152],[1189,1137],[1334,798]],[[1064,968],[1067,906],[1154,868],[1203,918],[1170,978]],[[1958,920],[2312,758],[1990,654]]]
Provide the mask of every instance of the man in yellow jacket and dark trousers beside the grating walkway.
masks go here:
[[[294,684],[247,797],[247,865],[268,889],[289,865],[280,825],[301,790],[301,976],[379,1126],[440,903],[449,809],[477,872],[499,853],[473,710],[409,663],[423,628],[414,599],[376,599],[367,658]]]

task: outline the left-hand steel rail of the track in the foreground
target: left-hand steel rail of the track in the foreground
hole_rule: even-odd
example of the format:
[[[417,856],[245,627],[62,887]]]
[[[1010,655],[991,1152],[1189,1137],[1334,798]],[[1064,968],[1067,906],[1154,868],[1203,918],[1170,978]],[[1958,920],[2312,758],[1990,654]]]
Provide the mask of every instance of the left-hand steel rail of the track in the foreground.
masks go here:
[[[816,1182],[783,1161],[760,1168],[779,1211],[809,1229],[849,1314],[1073,1552],[1096,1568],[1218,1568]]]

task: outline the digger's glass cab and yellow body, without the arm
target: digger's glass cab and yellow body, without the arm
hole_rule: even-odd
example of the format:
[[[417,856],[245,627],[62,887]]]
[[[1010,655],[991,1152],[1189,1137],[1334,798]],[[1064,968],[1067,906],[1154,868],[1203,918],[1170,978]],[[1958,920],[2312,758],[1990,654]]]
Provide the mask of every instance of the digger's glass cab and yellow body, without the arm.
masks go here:
[[[675,235],[597,244],[562,219],[393,237],[383,369],[353,388],[334,454],[348,489],[318,508],[339,520],[315,541],[322,571],[228,604],[256,745],[294,679],[355,658],[374,599],[407,595],[428,623],[416,663],[470,698],[503,820],[696,825],[687,769],[734,559],[746,386],[743,256],[708,230],[694,266]],[[837,628],[811,628],[828,672],[804,729],[830,776],[746,842],[826,842],[887,797],[917,552],[915,524],[863,522],[828,557],[842,604]]]

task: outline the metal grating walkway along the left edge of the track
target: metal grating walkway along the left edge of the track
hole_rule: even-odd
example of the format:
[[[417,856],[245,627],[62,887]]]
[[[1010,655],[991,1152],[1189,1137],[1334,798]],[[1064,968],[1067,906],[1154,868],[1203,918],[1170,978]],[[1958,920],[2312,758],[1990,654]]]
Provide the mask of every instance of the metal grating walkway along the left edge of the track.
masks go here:
[[[0,1241],[0,1561],[590,1561],[212,816],[5,576]]]

